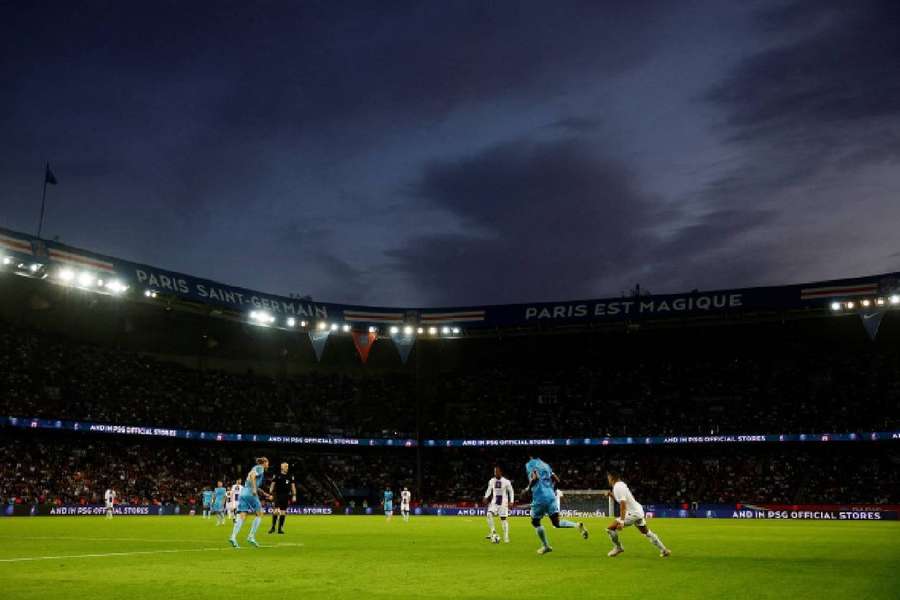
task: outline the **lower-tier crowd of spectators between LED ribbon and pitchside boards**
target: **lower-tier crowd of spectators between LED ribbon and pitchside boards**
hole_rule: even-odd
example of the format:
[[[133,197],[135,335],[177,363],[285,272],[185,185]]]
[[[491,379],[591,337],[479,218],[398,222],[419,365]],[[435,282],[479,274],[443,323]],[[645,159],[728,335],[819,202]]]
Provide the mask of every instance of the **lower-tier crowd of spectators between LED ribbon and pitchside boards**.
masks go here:
[[[521,492],[529,452],[407,448],[304,451],[242,444],[18,432],[0,439],[0,502],[96,504],[112,487],[131,504],[196,503],[216,481],[243,480],[256,455],[291,465],[299,502],[374,506],[385,486],[418,504],[477,503],[493,466]],[[890,443],[557,448],[540,456],[561,487],[608,488],[625,474],[646,503],[900,503],[900,448]],[[520,498],[527,503],[527,498]]]

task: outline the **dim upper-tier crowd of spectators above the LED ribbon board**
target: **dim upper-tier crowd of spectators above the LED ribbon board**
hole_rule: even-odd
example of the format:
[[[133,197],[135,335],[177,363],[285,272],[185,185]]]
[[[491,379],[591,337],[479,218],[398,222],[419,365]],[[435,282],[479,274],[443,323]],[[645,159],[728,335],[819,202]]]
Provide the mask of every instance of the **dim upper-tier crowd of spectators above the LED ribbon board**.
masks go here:
[[[268,377],[193,369],[0,323],[0,413],[204,431],[522,438],[900,428],[900,348],[740,338],[564,367]],[[649,340],[652,342],[653,338]],[[548,353],[552,350],[548,349]]]

